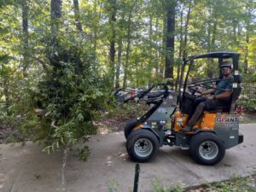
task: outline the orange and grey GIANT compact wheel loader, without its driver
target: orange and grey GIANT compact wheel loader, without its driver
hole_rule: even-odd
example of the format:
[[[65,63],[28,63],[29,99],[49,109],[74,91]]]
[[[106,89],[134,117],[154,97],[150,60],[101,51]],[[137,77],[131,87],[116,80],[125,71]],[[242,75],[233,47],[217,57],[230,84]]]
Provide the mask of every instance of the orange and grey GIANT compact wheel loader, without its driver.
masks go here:
[[[221,79],[191,81],[189,73],[198,70],[195,60],[216,61],[218,67],[224,60],[233,63],[234,77],[230,104],[205,111],[192,131],[183,132],[183,127],[195,112],[196,94],[201,89],[212,89]],[[136,90],[125,97],[125,90],[114,93],[119,102],[143,100],[150,109],[138,119],[125,125],[126,150],[138,162],[154,159],[163,145],[188,149],[193,159],[202,165],[214,165],[224,158],[225,150],[243,142],[239,132],[239,115],[234,113],[236,101],[241,93],[241,74],[238,71],[239,54],[235,52],[212,52],[193,55],[183,60],[178,91],[169,90],[166,84],[154,84],[148,90]],[[195,75],[194,75],[195,76]],[[158,90],[155,90],[155,89]],[[215,88],[216,89],[216,88]]]

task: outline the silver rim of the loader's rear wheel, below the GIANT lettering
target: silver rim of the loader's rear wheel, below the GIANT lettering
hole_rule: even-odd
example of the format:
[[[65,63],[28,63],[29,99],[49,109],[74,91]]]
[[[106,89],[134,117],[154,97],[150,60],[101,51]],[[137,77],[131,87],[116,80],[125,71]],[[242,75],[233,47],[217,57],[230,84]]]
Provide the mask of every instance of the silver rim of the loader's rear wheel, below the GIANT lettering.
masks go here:
[[[212,160],[218,155],[218,145],[211,141],[201,143],[199,147],[199,154],[205,160]]]

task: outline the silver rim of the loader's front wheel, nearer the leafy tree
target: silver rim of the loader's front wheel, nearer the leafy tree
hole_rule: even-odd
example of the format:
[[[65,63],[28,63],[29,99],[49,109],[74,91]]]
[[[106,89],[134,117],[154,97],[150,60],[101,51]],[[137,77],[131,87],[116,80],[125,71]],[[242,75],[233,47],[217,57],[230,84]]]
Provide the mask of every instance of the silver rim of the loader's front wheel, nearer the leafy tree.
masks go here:
[[[140,138],[134,145],[135,153],[141,157],[147,157],[153,151],[153,144],[147,138]]]

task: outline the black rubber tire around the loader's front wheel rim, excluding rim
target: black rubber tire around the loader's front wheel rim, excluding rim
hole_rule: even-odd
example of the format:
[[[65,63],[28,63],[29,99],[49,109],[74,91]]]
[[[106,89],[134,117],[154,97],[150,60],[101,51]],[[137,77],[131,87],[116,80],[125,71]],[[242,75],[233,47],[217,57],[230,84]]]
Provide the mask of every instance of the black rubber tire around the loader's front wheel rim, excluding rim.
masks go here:
[[[137,151],[135,149],[135,144],[137,143],[137,141],[143,139],[146,139],[149,143],[151,143],[150,146],[152,146],[152,151],[147,156],[137,154]],[[134,130],[131,131],[129,137],[127,138],[126,150],[131,160],[137,162],[147,162],[149,160],[153,160],[155,155],[157,154],[159,150],[159,140],[154,135],[154,133],[149,130]]]

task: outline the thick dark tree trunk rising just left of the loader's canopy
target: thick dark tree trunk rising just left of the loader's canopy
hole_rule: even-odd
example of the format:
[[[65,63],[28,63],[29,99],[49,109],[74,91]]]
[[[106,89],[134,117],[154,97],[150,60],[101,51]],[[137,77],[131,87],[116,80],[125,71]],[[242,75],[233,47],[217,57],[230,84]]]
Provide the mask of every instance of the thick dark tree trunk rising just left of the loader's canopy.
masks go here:
[[[176,1],[174,0],[166,0],[167,34],[165,78],[171,79],[171,85],[173,85],[175,4]]]

